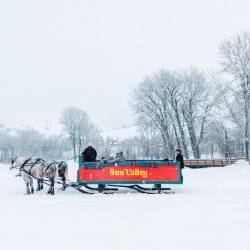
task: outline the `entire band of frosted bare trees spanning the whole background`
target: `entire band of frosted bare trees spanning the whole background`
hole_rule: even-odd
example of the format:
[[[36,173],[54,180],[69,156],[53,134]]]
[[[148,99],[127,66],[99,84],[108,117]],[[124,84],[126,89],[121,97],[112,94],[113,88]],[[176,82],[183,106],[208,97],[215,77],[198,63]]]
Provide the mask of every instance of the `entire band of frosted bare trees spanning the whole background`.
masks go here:
[[[61,135],[0,125],[0,159],[37,155],[44,159],[76,158],[93,145],[100,157],[124,151],[128,159],[184,157],[249,159],[250,33],[225,39],[218,46],[217,70],[190,66],[147,75],[133,90],[132,110],[138,134],[126,140],[103,138],[87,113],[63,110]]]

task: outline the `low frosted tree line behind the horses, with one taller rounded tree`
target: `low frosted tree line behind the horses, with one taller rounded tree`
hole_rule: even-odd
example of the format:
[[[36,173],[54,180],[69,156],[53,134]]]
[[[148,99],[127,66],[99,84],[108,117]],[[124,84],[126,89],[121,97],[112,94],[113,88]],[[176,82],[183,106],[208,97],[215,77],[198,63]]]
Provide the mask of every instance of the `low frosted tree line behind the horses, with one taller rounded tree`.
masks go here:
[[[0,124],[0,161],[20,155],[36,155],[50,161],[76,159],[89,145],[96,148],[99,158],[107,158],[123,148],[120,141],[104,139],[87,113],[77,107],[66,107],[59,123],[62,130],[58,135],[44,134],[31,127],[15,129]]]

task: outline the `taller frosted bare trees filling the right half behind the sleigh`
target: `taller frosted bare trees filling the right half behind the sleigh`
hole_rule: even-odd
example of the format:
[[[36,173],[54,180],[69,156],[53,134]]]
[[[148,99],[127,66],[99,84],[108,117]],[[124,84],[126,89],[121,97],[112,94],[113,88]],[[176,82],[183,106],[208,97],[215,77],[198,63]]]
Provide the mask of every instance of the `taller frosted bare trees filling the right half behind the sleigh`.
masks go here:
[[[148,143],[158,138],[160,155],[173,159],[180,148],[187,159],[248,159],[250,33],[222,41],[218,54],[216,71],[161,69],[135,88],[132,107],[141,137]]]

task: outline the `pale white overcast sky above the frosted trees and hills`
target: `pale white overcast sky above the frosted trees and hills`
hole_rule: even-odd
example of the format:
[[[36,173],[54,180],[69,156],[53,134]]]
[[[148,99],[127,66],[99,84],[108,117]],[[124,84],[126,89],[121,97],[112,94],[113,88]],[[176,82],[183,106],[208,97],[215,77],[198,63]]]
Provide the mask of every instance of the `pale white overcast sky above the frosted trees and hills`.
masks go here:
[[[218,43],[244,30],[249,0],[0,0],[0,122],[54,126],[77,106],[101,129],[133,124],[146,74],[215,68]]]

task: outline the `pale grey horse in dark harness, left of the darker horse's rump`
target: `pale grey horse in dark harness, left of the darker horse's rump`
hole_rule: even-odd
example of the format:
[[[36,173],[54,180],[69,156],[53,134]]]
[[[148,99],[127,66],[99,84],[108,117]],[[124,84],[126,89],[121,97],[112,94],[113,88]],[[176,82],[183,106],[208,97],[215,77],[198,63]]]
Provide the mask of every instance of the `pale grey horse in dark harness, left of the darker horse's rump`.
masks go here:
[[[33,194],[33,179],[38,182],[37,191],[43,188],[43,179],[47,178],[50,182],[50,188],[48,194],[54,195],[55,177],[57,175],[57,164],[47,164],[44,160],[32,156],[17,157],[11,161],[11,169],[18,169],[23,176],[23,180],[26,184],[26,193]],[[65,184],[66,187],[66,184]]]

